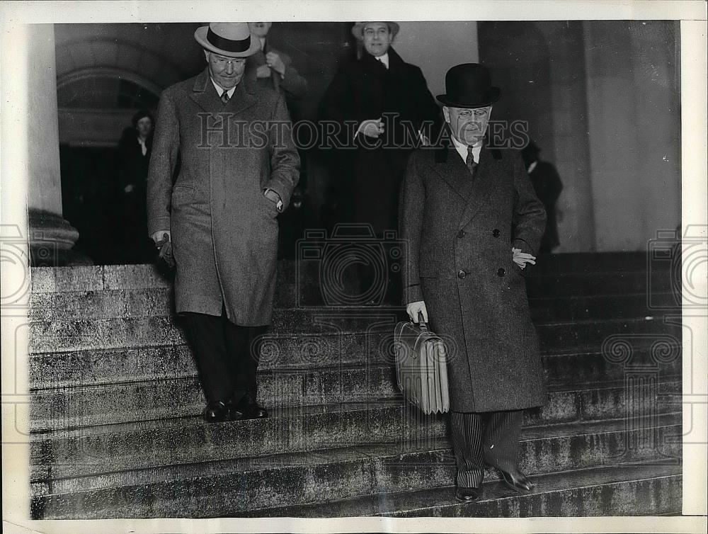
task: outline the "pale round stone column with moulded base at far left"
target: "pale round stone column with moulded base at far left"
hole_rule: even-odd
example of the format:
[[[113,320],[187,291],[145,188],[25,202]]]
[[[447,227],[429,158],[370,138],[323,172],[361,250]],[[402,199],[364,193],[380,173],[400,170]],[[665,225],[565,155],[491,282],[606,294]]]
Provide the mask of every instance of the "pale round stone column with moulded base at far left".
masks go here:
[[[79,232],[62,217],[54,25],[30,24],[18,42],[27,65],[27,170],[30,264],[69,262]]]

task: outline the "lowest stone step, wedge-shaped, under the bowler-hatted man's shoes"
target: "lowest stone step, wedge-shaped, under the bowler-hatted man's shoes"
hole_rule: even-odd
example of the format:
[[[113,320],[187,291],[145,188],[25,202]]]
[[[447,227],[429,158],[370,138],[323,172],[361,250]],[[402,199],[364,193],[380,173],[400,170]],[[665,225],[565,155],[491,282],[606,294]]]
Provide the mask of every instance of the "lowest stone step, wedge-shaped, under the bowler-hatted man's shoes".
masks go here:
[[[549,473],[534,478],[537,489],[519,495],[498,481],[484,482],[472,504],[455,500],[455,487],[379,493],[321,504],[282,506],[244,517],[580,517],[681,514],[680,465],[658,460]]]

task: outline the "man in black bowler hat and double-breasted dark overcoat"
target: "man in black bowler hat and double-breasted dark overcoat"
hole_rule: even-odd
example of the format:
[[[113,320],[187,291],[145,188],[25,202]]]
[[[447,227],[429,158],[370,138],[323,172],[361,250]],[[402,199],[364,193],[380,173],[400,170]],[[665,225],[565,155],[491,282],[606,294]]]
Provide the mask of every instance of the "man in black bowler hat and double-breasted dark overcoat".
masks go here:
[[[484,144],[500,96],[487,69],[452,67],[445,89],[438,100],[452,146],[443,136],[415,152],[401,189],[404,303],[447,346],[455,496],[471,502],[485,463],[515,491],[533,488],[518,470],[518,443],[523,409],[546,395],[523,273],[546,215],[519,152]]]

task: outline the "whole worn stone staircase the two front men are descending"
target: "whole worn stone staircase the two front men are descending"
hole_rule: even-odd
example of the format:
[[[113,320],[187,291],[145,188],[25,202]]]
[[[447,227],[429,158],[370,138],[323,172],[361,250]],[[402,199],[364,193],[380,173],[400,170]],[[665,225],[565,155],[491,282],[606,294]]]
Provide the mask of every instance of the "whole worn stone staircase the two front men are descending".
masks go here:
[[[33,518],[680,513],[670,272],[647,276],[644,254],[540,260],[527,287],[549,402],[527,414],[520,448],[537,489],[519,496],[490,470],[469,505],[454,499],[445,417],[396,390],[402,310],[325,307],[316,274],[281,262],[258,378],[270,417],[207,425],[169,280],[150,266],[34,268]]]

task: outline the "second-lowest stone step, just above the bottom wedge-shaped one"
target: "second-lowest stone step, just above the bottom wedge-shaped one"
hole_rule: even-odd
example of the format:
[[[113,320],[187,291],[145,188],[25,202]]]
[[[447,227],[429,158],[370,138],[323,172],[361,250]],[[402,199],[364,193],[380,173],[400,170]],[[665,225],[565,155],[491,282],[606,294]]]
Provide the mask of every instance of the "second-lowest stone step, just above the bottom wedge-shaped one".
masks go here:
[[[678,415],[654,419],[629,432],[623,420],[527,428],[520,467],[529,475],[542,475],[659,458],[675,465],[680,458],[679,420]],[[632,447],[647,435],[651,446]],[[454,470],[454,459],[442,440],[407,441],[393,447],[367,444],[35,479],[32,510],[35,518],[172,517],[185,510],[192,516],[230,516],[274,506],[321,504],[323,495],[337,501],[445,487]],[[496,477],[493,472],[489,475]]]

